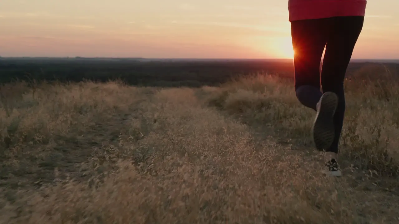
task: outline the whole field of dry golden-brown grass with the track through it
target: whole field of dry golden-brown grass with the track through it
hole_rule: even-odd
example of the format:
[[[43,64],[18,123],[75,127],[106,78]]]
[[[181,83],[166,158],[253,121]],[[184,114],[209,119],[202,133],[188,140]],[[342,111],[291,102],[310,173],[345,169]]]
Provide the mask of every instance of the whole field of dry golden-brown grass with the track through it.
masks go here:
[[[398,223],[399,88],[347,82],[324,177],[293,83],[5,84],[0,223]]]

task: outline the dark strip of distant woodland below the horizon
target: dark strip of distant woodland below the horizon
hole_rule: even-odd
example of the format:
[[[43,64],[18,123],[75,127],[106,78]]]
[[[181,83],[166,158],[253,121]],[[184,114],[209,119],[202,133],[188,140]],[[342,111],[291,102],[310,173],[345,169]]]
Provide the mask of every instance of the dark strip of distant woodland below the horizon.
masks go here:
[[[351,63],[348,77],[397,77],[398,64]],[[8,59],[0,60],[0,83],[16,80],[105,82],[122,80],[141,86],[218,85],[239,75],[270,73],[293,79],[294,67],[287,61],[134,61],[101,59]],[[357,76],[361,76],[360,78]]]

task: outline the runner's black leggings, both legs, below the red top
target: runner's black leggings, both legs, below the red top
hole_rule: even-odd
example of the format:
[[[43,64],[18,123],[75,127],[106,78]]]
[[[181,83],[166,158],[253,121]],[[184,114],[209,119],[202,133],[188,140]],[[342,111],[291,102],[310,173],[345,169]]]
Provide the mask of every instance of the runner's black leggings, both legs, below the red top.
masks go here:
[[[335,92],[338,95],[338,107],[334,115],[335,138],[326,151],[338,153],[345,114],[345,73],[363,21],[363,16],[349,16],[291,22],[296,97],[304,106],[314,110],[322,96],[320,61],[326,47],[321,86],[323,92]]]

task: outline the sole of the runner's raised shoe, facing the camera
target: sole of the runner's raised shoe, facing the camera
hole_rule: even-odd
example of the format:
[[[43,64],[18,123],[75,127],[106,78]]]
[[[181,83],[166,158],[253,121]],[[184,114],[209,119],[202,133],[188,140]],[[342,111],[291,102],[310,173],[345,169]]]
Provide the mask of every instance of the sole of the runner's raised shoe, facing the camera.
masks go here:
[[[327,150],[335,137],[334,114],[338,105],[338,96],[334,92],[326,92],[320,100],[320,108],[313,123],[313,140],[316,149]]]

